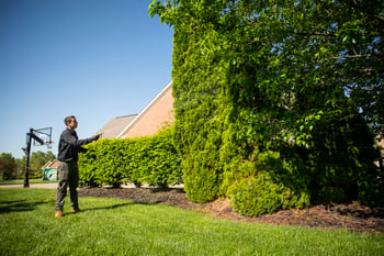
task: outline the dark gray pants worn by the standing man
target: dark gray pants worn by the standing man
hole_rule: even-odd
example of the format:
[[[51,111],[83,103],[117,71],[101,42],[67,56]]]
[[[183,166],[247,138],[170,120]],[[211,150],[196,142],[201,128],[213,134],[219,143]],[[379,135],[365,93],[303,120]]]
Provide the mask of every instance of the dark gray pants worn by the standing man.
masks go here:
[[[56,192],[55,211],[63,211],[64,202],[67,196],[67,188],[69,187],[70,208],[78,209],[77,188],[79,187],[79,168],[77,160],[74,162],[58,162],[57,167],[58,187]]]

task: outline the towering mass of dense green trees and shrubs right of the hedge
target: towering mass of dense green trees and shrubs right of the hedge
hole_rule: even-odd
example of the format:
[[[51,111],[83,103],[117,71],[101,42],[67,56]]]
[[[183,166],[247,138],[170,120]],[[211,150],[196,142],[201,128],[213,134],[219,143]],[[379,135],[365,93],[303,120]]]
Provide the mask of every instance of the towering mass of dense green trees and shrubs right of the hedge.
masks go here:
[[[247,215],[380,203],[383,1],[154,1],[174,27],[176,137],[196,202]]]

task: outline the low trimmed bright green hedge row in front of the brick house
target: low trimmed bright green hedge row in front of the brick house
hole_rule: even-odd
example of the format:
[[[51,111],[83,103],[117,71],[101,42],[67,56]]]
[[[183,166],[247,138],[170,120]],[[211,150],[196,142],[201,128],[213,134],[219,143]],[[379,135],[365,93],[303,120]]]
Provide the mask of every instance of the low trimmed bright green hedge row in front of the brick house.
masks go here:
[[[170,129],[139,138],[105,138],[87,145],[87,149],[79,158],[83,186],[120,187],[128,182],[167,188],[181,180],[180,156]]]

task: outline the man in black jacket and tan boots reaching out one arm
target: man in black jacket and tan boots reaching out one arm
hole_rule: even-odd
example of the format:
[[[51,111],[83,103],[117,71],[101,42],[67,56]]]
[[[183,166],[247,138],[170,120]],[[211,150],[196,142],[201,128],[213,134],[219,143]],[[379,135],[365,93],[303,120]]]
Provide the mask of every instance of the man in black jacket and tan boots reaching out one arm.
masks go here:
[[[79,169],[78,169],[78,153],[84,152],[82,145],[87,145],[99,140],[100,134],[79,140],[76,134],[77,120],[74,115],[69,115],[64,120],[67,129],[61,133],[58,144],[58,187],[56,192],[55,216],[61,218],[65,198],[67,196],[67,187],[69,186],[70,212],[77,213],[80,211],[78,203],[77,188],[79,187]]]

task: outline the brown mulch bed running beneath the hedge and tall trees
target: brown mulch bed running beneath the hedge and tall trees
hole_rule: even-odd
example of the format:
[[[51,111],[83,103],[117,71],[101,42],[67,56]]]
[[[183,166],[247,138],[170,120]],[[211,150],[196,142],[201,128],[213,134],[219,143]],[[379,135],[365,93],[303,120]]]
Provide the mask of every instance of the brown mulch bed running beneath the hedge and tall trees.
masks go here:
[[[145,203],[165,203],[185,210],[202,212],[216,218],[242,222],[302,225],[320,229],[342,229],[359,233],[384,234],[384,208],[371,208],[357,202],[319,204],[306,209],[291,209],[273,214],[248,218],[231,211],[229,200],[211,203],[191,202],[183,189],[156,190],[150,188],[81,188],[80,197],[118,198]]]

